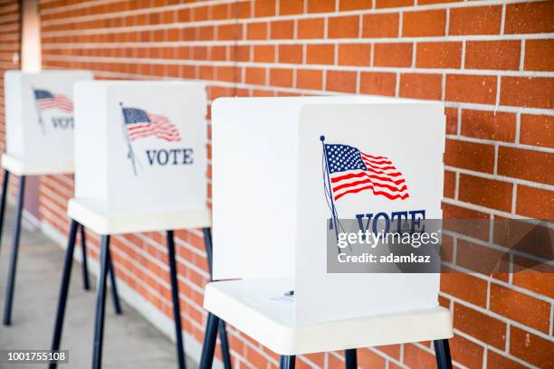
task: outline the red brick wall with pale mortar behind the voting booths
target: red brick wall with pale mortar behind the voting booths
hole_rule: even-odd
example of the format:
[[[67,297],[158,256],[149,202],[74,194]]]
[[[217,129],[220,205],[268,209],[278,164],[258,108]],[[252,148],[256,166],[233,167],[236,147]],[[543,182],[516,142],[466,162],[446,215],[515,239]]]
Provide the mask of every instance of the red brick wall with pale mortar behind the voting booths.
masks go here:
[[[210,101],[341,93],[443,100],[444,215],[554,218],[554,2],[43,0],[41,7],[45,68],[205,80]],[[43,220],[67,232],[72,177],[48,176],[41,185]],[[177,235],[184,326],[201,342],[201,233]],[[161,235],[113,241],[119,279],[171,317]],[[441,289],[454,317],[456,366],[554,366],[551,274],[445,274]],[[277,366],[277,356],[247,336],[232,329],[231,340],[237,367]],[[422,342],[361,349],[358,360],[365,368],[430,367],[433,355]],[[342,353],[306,355],[299,366],[342,360]]]

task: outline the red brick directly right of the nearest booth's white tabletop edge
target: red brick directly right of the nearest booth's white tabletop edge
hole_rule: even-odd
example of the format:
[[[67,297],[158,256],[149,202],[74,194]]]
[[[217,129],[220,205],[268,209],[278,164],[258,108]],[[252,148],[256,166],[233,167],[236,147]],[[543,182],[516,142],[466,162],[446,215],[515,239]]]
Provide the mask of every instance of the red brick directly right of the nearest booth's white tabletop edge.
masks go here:
[[[454,303],[454,327],[494,347],[506,345],[506,323],[473,308]]]

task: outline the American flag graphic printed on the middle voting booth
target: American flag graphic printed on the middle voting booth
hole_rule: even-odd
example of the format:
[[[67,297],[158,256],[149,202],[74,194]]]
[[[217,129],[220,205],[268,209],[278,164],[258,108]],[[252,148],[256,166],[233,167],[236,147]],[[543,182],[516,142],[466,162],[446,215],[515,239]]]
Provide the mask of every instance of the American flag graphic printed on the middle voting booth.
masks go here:
[[[123,108],[123,118],[131,141],[149,136],[169,142],[181,140],[177,127],[162,115],[148,113],[143,109]]]

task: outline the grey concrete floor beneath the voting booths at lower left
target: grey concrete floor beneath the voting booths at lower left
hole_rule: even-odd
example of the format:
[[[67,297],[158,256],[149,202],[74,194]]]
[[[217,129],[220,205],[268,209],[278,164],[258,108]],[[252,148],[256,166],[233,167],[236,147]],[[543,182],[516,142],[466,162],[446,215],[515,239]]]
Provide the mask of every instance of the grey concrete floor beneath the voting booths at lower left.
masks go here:
[[[5,304],[5,284],[11,253],[12,208],[7,210],[4,237],[0,249],[0,313]],[[42,232],[22,232],[17,265],[12,326],[0,324],[0,350],[47,349],[51,345],[53,323],[62,279],[64,251]],[[91,276],[91,288],[96,279]],[[94,321],[94,290],[82,289],[81,264],[74,263],[70,296],[65,314],[62,349],[69,350],[69,364],[63,368],[90,368]],[[113,311],[111,295],[106,303],[104,330],[104,368],[175,368],[175,345],[151,326],[131,307],[123,303],[123,315]],[[37,368],[36,364],[0,364],[0,368]],[[197,365],[187,360],[188,368]]]

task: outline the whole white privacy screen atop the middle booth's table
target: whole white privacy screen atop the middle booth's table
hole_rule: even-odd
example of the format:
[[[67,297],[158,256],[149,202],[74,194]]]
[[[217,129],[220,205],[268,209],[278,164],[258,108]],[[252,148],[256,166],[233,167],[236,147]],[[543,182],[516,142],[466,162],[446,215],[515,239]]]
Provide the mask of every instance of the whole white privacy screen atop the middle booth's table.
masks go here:
[[[75,88],[75,197],[104,213],[206,208],[205,85],[84,81]]]

